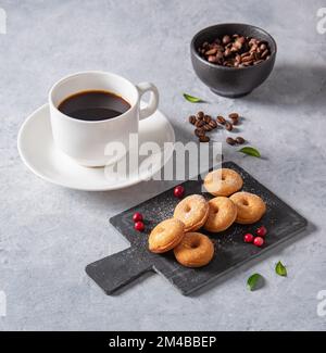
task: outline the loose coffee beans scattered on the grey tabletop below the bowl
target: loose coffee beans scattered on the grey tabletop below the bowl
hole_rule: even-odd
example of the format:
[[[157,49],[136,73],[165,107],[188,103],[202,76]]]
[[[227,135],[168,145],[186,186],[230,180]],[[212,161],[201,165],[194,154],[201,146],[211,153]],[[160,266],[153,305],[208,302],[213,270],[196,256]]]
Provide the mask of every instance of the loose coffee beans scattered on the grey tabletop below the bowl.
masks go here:
[[[204,112],[198,112],[196,115],[189,116],[189,123],[196,126],[195,135],[200,142],[210,142],[210,137],[206,133],[210,133],[218,127],[224,127],[226,130],[231,131],[235,125],[239,124],[240,116],[238,113],[231,113],[228,115],[229,121],[225,119],[222,115],[213,118],[211,115],[206,115]],[[236,140],[227,138],[228,144],[243,144],[246,141],[242,137],[238,137]]]

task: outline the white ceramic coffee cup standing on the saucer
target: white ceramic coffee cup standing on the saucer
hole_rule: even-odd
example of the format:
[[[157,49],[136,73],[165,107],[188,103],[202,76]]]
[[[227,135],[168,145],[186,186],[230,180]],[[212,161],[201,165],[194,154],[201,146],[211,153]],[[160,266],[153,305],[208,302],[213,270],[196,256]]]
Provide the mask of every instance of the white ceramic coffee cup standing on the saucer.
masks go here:
[[[58,110],[70,96],[89,90],[104,90],[122,97],[130,109],[105,121],[82,121]],[[151,92],[149,103],[140,109],[143,93]],[[55,147],[78,164],[89,167],[104,166],[117,161],[106,155],[110,142],[121,142],[126,151],[130,134],[138,134],[138,123],[152,115],[159,104],[159,91],[150,83],[133,85],[127,79],[106,72],[80,72],[59,80],[49,92],[51,127]],[[121,157],[121,155],[118,156]]]

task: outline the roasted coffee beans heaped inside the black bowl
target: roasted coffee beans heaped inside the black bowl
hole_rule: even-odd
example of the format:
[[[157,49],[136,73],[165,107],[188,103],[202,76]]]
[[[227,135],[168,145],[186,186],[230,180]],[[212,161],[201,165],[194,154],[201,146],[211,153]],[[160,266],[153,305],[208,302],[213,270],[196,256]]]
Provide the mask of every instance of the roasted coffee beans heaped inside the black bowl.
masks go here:
[[[271,56],[266,41],[240,35],[226,35],[213,42],[205,41],[198,52],[212,64],[238,68],[258,65]]]

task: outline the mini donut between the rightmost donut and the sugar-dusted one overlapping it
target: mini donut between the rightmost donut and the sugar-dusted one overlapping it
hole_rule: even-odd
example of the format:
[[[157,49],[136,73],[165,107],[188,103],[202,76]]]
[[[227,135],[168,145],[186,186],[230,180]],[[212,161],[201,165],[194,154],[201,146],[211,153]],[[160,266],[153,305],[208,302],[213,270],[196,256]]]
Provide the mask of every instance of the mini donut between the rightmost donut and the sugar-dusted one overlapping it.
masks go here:
[[[218,197],[209,201],[210,214],[204,228],[212,232],[224,231],[233,225],[237,218],[237,206],[225,197]]]

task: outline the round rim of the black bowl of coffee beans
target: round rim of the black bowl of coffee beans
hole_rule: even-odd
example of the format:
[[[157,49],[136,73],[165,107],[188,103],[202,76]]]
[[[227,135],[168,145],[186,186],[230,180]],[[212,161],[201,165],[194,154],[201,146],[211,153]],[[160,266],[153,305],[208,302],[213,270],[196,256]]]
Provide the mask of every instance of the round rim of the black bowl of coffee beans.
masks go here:
[[[228,67],[228,66],[222,66],[222,65],[216,65],[216,64],[210,63],[209,61],[201,58],[199,55],[197,49],[195,48],[195,41],[197,40],[197,38],[200,35],[202,35],[203,33],[205,33],[205,31],[208,31],[210,29],[213,29],[213,28],[216,28],[216,27],[222,27],[222,26],[230,26],[230,25],[231,26],[246,26],[246,27],[258,29],[259,31],[262,31],[263,34],[265,34],[271,39],[271,41],[273,42],[273,45],[275,47],[275,50],[271,53],[269,59],[264,60],[264,62],[262,62],[262,63],[260,63],[258,65],[246,66],[246,67]],[[195,54],[195,56],[198,60],[200,60],[202,63],[209,65],[210,67],[215,67],[215,68],[218,68],[218,70],[225,70],[225,71],[243,71],[243,70],[253,70],[254,67],[260,67],[260,66],[268,63],[272,59],[274,59],[276,56],[276,53],[277,53],[277,43],[276,43],[276,40],[273,38],[273,36],[268,31],[266,31],[265,29],[263,29],[263,28],[261,28],[259,26],[249,25],[247,23],[227,22],[227,23],[215,24],[215,25],[212,25],[212,26],[209,26],[209,27],[205,27],[205,28],[199,30],[191,39],[190,49],[191,49],[192,54]]]

